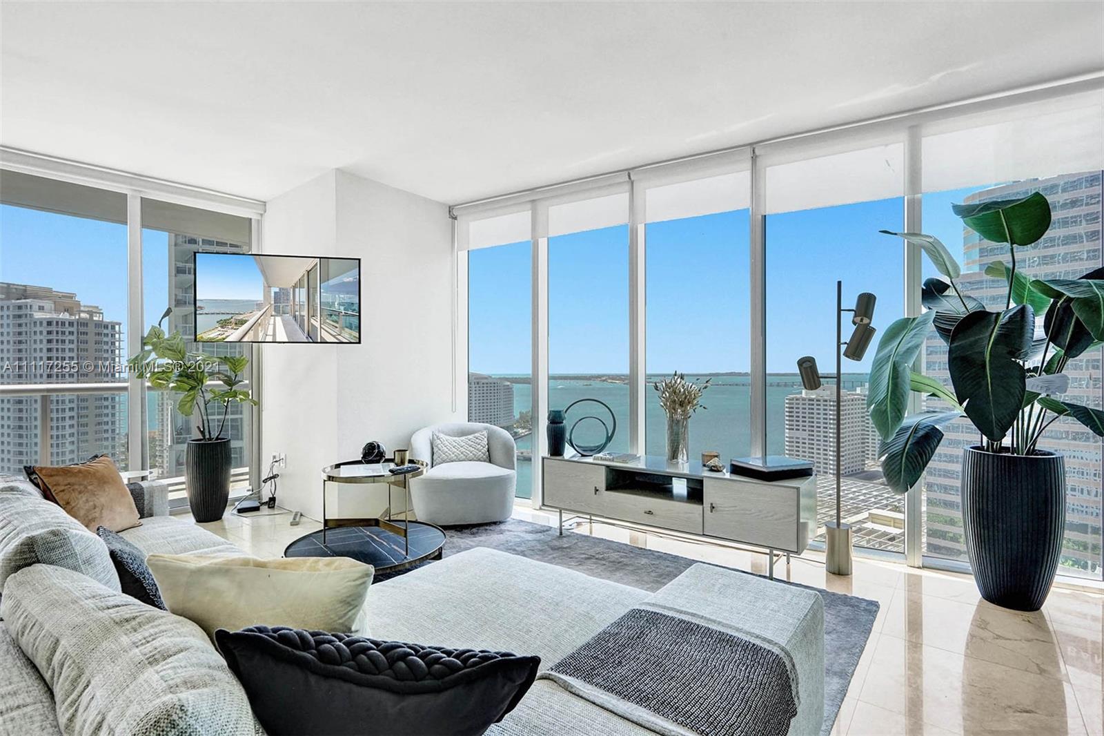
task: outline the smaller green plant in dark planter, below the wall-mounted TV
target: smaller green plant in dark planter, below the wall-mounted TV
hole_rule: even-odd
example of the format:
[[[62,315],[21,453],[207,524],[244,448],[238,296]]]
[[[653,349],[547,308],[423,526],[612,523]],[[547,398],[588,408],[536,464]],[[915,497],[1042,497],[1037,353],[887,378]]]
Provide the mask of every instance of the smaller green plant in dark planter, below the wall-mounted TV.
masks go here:
[[[179,332],[167,336],[161,328],[170,314],[172,307],[166,309],[142,337],[141,353],[127,362],[153,389],[179,393],[177,410],[181,414],[199,413],[197,429],[200,435],[188,441],[184,458],[184,487],[195,521],[217,522],[230,498],[232,458],[230,440],[223,435],[230,404],[257,403],[241,388],[245,382],[242,374],[250,359],[189,353]]]

